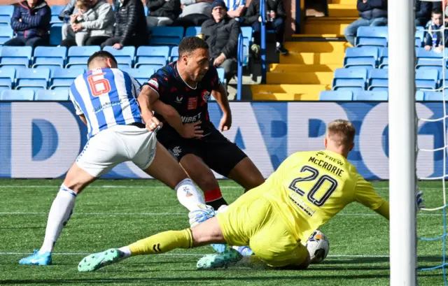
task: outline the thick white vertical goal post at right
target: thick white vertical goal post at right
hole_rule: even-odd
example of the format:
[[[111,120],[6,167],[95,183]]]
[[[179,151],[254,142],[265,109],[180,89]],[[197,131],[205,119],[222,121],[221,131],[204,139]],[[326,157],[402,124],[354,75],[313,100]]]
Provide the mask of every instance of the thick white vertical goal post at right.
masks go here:
[[[414,0],[388,1],[391,285],[416,285]]]

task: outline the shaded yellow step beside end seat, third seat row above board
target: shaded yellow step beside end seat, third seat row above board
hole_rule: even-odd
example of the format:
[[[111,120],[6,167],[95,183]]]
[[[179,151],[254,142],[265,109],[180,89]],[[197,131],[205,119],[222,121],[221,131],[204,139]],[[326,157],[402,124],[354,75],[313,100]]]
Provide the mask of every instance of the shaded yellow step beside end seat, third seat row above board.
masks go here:
[[[344,63],[345,54],[330,52],[290,52],[280,55],[280,64],[339,64]]]

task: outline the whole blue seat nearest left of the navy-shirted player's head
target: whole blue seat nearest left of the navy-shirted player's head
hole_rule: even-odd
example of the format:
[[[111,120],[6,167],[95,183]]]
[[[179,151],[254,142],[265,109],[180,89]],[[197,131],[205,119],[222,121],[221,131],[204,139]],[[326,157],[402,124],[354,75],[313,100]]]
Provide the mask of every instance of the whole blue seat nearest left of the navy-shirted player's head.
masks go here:
[[[137,69],[139,66],[145,65],[152,69],[160,69],[167,64],[168,58],[168,46],[139,47],[137,49],[135,68]]]

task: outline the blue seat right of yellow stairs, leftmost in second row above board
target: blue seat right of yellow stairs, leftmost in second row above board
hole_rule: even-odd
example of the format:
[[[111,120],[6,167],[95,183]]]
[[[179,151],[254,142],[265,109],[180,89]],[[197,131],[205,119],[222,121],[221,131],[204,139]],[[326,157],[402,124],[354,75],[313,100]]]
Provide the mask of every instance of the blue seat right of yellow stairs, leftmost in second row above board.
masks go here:
[[[336,69],[332,90],[365,90],[367,69]]]

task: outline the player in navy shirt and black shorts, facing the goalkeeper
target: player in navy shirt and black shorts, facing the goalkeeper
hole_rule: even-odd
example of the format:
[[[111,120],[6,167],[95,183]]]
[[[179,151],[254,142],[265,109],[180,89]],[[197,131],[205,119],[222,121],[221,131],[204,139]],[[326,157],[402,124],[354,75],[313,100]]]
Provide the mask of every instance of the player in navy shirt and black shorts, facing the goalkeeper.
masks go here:
[[[215,209],[227,205],[211,169],[246,190],[264,183],[251,159],[209,120],[207,102],[213,93],[223,110],[219,129],[226,131],[232,125],[227,92],[210,64],[209,46],[204,40],[183,38],[179,61],[157,71],[146,85],[159,96],[153,103],[155,116],[164,123],[158,141],[204,191],[207,205]]]

